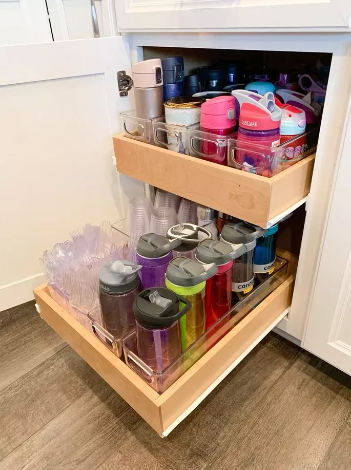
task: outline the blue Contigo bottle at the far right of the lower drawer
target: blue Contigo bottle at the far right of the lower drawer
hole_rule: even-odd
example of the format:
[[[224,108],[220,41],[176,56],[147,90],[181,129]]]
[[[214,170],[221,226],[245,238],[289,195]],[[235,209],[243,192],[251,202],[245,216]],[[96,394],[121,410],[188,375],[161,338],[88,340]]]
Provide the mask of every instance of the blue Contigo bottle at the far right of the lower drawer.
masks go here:
[[[276,261],[278,224],[272,225],[266,233],[257,238],[254,251],[254,273],[262,282],[274,272]]]

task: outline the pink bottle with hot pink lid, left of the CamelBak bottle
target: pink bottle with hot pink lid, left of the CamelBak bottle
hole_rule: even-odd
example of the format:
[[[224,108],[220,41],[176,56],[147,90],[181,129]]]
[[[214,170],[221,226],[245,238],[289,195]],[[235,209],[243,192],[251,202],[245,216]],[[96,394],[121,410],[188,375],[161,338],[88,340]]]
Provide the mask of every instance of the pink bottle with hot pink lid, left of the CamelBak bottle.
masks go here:
[[[235,100],[232,96],[218,96],[201,105],[201,130],[218,136],[228,136],[235,130]],[[226,140],[201,142],[201,158],[226,165]]]

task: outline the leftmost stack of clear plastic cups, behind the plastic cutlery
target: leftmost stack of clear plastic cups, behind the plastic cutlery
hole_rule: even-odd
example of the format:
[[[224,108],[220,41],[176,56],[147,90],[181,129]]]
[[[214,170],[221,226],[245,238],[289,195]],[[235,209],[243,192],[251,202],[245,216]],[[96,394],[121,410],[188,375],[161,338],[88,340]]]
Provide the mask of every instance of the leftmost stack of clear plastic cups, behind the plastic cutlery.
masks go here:
[[[130,199],[128,205],[128,225],[131,246],[136,246],[141,235],[150,232],[151,212],[152,203],[149,198],[139,196]]]

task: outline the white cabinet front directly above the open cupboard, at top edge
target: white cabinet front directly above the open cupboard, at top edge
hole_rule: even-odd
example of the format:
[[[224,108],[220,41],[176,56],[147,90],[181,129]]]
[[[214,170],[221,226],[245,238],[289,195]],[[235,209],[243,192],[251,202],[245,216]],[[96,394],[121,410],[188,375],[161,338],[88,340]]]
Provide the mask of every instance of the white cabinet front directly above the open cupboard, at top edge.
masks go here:
[[[119,31],[348,31],[351,14],[350,0],[115,0],[115,4]]]

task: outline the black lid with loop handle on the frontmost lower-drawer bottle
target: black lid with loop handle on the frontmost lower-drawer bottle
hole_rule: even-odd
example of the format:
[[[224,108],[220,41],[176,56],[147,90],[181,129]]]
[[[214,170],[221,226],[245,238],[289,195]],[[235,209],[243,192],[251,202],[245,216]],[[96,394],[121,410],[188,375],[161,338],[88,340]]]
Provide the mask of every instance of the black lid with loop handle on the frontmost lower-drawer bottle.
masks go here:
[[[179,302],[185,306],[179,310]],[[190,310],[189,300],[164,287],[144,289],[134,298],[136,321],[146,328],[166,328]]]

